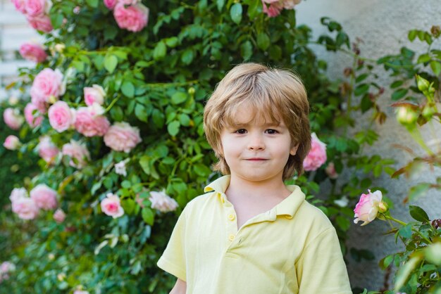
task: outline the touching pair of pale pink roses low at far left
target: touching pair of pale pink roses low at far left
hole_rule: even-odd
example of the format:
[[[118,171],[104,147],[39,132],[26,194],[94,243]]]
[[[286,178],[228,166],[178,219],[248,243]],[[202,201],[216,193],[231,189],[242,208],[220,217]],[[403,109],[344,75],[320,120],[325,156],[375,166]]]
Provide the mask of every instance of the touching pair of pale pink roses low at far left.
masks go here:
[[[9,199],[12,203],[12,211],[20,219],[35,219],[39,210],[54,210],[57,205],[57,193],[45,184],[39,184],[30,191],[27,196],[25,188],[14,188]]]

